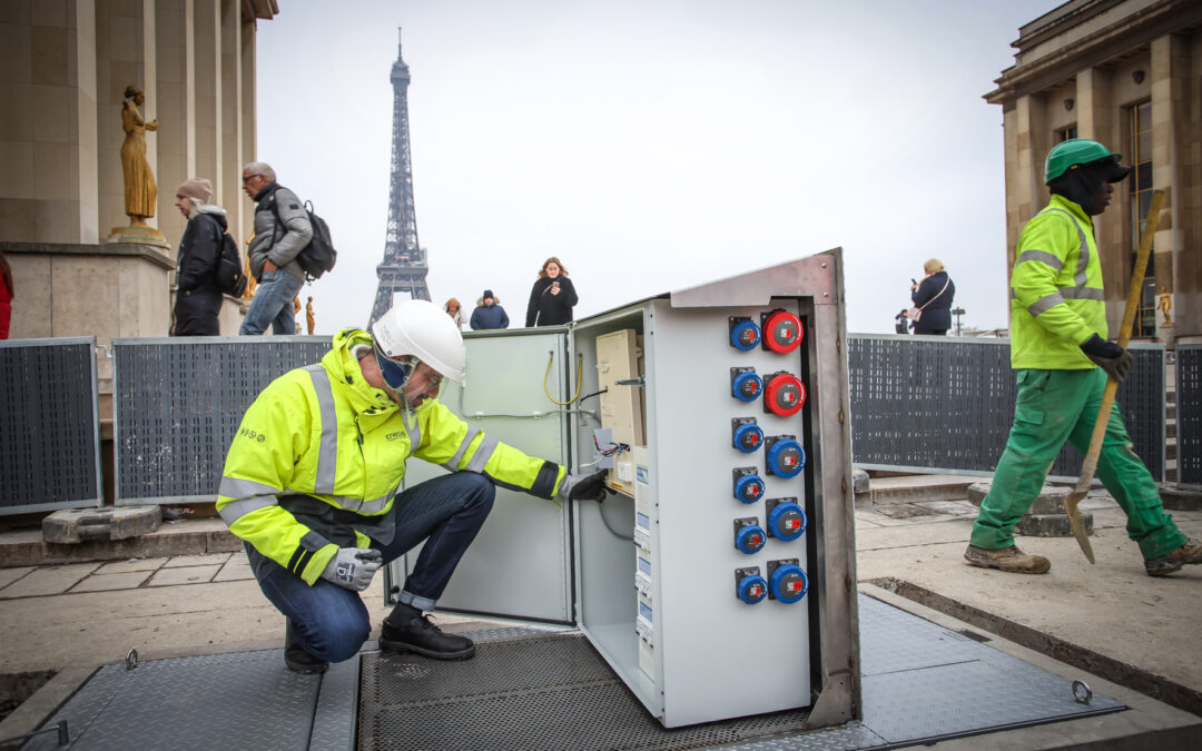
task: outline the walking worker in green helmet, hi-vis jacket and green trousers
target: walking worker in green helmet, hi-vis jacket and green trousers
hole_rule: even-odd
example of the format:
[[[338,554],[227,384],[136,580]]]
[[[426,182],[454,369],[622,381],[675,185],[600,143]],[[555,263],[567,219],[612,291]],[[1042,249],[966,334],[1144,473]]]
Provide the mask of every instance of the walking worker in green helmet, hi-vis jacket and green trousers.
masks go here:
[[[1018,238],[1010,288],[1010,362],[1018,403],[1006,449],[972,525],[964,558],[972,566],[1047,573],[1048,559],[1014,544],[1013,528],[1039,497],[1065,440],[1082,454],[1102,403],[1107,377],[1121,382],[1131,354],[1107,340],[1106,297],[1091,216],[1106,210],[1113,184],[1131,171],[1119,154],[1088,138],[1048,153],[1048,205]],[[1097,477],[1127,515],[1144,571],[1160,577],[1202,564],[1202,544],[1165,513],[1148,469],[1131,451],[1118,405],[1106,425]]]

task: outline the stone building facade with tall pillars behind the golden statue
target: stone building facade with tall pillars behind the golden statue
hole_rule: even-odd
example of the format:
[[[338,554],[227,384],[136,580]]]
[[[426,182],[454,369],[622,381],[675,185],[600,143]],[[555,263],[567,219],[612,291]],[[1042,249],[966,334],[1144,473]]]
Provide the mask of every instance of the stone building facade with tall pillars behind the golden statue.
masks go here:
[[[276,0],[0,0],[0,250],[13,269],[11,336],[162,336],[185,220],[174,189],[213,181],[244,240],[252,205],[255,35]],[[145,91],[160,246],[106,242],[129,223],[120,148],[127,85]],[[165,245],[165,246],[162,246]],[[226,298],[222,334],[243,304]],[[108,363],[101,358],[99,375]],[[102,387],[103,391],[103,387]]]

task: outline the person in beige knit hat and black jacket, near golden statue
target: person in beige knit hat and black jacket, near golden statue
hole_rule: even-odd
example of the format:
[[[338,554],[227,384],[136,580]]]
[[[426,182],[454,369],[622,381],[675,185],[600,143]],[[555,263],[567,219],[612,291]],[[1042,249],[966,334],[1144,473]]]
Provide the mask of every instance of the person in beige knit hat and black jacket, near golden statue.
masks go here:
[[[175,190],[175,208],[188,220],[175,267],[172,336],[216,336],[221,312],[218,266],[226,233],[225,209],[209,203],[213,184],[192,178]]]

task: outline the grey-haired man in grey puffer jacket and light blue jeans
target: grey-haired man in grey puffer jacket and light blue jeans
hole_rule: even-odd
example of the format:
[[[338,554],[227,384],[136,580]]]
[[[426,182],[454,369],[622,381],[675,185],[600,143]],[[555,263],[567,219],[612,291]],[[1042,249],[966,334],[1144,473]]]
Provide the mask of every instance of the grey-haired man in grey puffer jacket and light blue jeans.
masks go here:
[[[250,273],[258,286],[238,333],[262,334],[270,324],[273,334],[294,334],[292,299],[305,280],[297,256],[314,232],[309,213],[296,193],[275,181],[275,171],[266,162],[243,167],[242,189],[257,203]]]

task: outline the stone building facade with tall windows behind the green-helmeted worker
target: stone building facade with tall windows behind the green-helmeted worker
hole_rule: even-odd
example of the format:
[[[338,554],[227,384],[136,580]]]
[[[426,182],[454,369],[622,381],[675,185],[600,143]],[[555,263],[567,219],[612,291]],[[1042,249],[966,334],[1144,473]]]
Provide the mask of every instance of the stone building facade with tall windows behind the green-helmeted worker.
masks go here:
[[[1001,105],[1008,264],[1047,202],[1043,163],[1094,138],[1135,167],[1095,219],[1107,318],[1118,332],[1152,191],[1165,191],[1132,339],[1202,341],[1202,2],[1071,0],[1019,29],[1014,65],[984,95]],[[1173,326],[1158,310],[1170,294]]]

